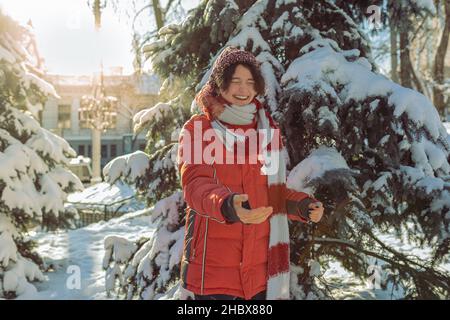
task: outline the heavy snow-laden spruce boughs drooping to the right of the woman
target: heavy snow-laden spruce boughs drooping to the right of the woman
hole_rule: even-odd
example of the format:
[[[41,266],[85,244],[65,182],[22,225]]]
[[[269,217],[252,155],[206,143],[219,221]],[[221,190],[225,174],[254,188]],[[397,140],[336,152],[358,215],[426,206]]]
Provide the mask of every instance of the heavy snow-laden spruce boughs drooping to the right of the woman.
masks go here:
[[[297,229],[295,259],[330,255],[362,277],[370,264],[383,264],[390,274],[384,285],[399,285],[406,297],[448,298],[449,275],[439,263],[450,244],[450,148],[436,109],[418,92],[371,72],[359,52],[332,46],[303,52],[281,79],[286,89],[278,111],[291,162],[328,145],[355,174],[339,169],[305,177],[326,203],[328,219],[315,241],[307,237],[311,230]],[[297,173],[305,172],[300,163]],[[430,248],[428,258],[395,250],[379,236],[389,232]],[[302,249],[308,243],[310,250]],[[299,283],[309,282],[303,275]]]

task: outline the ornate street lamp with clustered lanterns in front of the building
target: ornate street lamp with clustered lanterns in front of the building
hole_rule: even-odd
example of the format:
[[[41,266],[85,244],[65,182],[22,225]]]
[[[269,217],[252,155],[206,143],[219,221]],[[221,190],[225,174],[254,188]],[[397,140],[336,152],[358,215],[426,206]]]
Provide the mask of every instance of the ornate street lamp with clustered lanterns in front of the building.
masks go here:
[[[91,183],[102,181],[101,178],[101,133],[112,127],[117,119],[117,98],[105,94],[103,69],[100,79],[95,79],[93,93],[81,97],[79,118],[92,130],[92,179]]]

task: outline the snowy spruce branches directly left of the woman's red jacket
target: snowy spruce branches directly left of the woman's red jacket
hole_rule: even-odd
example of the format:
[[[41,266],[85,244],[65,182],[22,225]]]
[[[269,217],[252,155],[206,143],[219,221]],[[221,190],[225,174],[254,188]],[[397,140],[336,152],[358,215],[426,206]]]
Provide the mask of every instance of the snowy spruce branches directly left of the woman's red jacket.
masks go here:
[[[166,85],[167,82],[163,91]],[[103,267],[108,294],[116,292],[127,299],[185,299],[189,295],[177,290],[185,202],[177,174],[176,141],[189,115],[189,108],[180,104],[183,99],[180,94],[168,103],[158,103],[137,113],[134,131],[137,134],[148,130],[146,152],[118,157],[103,169],[109,183],[121,179],[136,185],[138,196],[146,197],[147,204],[153,206],[150,211],[155,225],[150,238],[136,243],[121,237],[105,239]],[[168,288],[172,290],[167,292]]]

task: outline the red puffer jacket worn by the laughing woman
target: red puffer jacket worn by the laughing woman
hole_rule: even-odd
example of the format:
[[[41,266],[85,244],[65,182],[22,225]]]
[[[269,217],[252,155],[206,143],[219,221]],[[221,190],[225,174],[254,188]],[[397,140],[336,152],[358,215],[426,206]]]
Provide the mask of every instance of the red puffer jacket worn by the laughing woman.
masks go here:
[[[256,121],[244,126],[227,124],[227,127],[247,130],[256,128]],[[182,286],[196,294],[227,294],[250,299],[267,286],[269,219],[260,224],[227,223],[221,206],[233,193],[247,194],[251,208],[268,206],[267,176],[261,174],[259,161],[256,164],[248,161],[194,164],[193,152],[187,156],[186,149],[197,145],[204,150],[211,143],[201,139],[208,129],[211,129],[208,118],[194,115],[184,125],[179,139],[178,165],[188,205]],[[309,197],[303,192],[285,191],[286,200],[301,201]],[[298,215],[289,218],[304,221]]]

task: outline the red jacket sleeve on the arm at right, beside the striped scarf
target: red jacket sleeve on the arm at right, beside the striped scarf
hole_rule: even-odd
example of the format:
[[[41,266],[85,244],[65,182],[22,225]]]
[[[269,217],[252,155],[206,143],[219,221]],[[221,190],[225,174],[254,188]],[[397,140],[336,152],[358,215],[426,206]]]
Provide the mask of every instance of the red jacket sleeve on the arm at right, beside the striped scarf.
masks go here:
[[[318,200],[307,193],[286,188],[285,201],[288,218],[307,223],[309,222],[309,204]]]

